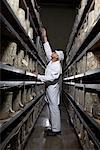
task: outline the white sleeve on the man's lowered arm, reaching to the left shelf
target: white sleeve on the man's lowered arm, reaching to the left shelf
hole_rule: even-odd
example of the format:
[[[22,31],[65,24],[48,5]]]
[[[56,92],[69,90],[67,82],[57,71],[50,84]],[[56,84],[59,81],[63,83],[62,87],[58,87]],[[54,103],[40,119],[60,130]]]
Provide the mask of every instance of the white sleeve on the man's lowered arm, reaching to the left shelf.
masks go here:
[[[42,82],[47,82],[47,81],[53,81],[54,79],[57,79],[60,75],[60,72],[57,71],[56,69],[51,69],[51,73],[48,75],[38,75],[38,79],[41,80]]]

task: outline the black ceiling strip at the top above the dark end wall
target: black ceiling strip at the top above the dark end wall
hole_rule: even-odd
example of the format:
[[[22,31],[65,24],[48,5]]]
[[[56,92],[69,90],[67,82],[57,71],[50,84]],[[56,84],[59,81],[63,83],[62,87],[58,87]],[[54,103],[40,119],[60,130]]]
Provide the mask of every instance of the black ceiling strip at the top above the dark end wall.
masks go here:
[[[69,8],[76,8],[79,6],[81,0],[37,0],[40,6],[65,6]]]

